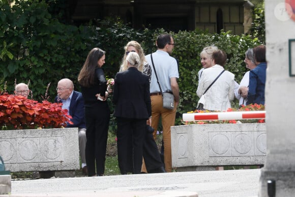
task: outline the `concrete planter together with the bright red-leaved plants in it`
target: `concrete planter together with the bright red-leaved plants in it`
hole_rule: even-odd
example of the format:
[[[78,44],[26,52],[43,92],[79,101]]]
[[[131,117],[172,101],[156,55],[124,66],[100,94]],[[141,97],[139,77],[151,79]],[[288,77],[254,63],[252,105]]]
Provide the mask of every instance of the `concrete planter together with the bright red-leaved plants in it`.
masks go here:
[[[62,104],[0,95],[0,155],[11,172],[79,169],[78,129]]]

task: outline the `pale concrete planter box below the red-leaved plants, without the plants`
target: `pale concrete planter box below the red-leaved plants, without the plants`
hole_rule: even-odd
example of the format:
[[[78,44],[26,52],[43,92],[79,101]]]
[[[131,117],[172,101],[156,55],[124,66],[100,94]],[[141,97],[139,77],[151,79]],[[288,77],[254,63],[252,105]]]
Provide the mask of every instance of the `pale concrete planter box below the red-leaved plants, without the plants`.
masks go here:
[[[0,155],[11,172],[79,169],[78,128],[1,130]]]

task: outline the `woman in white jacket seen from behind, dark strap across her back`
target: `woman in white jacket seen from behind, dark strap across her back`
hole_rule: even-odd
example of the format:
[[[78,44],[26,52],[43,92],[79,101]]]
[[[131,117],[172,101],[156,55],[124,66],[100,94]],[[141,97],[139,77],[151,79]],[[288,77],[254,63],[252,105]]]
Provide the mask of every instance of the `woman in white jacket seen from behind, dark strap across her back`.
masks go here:
[[[226,111],[231,107],[230,101],[234,98],[234,74],[224,71],[226,58],[226,53],[222,50],[213,52],[214,66],[204,69],[199,80],[198,107],[202,104],[204,109],[211,111]]]

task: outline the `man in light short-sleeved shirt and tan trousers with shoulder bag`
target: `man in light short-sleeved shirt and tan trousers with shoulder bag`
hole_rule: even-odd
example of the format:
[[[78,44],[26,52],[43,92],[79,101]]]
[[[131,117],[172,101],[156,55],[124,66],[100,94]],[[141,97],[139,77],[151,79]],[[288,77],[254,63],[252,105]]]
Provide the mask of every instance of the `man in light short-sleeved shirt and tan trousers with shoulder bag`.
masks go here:
[[[152,77],[150,85],[151,101],[152,101],[152,127],[155,128],[154,137],[156,138],[157,128],[160,117],[163,126],[164,141],[164,163],[166,172],[172,171],[171,159],[171,130],[174,126],[176,108],[179,104],[179,86],[177,79],[179,78],[178,63],[170,53],[174,48],[174,40],[169,34],[161,34],[158,36],[156,45],[158,50],[153,55],[153,62],[159,79],[159,83],[163,92],[169,92],[174,96],[174,109],[163,108],[163,98],[160,87],[157,82],[154,67],[151,60],[151,54],[145,56],[146,61],[152,67]]]

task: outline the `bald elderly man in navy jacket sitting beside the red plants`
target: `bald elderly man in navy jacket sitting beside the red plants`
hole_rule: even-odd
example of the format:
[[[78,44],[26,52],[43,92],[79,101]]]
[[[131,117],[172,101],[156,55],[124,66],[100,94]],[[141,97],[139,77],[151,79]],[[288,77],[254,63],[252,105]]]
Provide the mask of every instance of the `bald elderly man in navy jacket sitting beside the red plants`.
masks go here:
[[[68,109],[68,114],[72,116],[71,121],[74,124],[68,124],[67,127],[78,127],[79,132],[79,153],[81,157],[82,175],[87,175],[85,146],[86,146],[86,125],[84,115],[84,101],[80,92],[74,91],[73,82],[64,78],[57,83],[57,96],[55,102],[63,103],[62,108]]]

